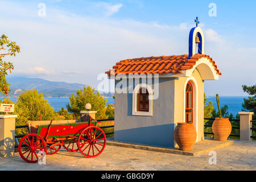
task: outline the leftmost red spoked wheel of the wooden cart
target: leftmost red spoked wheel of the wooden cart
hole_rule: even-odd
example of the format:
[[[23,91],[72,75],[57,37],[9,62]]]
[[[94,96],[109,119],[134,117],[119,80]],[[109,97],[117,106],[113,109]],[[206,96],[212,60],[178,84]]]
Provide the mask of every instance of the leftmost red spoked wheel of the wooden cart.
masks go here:
[[[42,156],[39,151],[46,152],[46,142],[39,135],[31,133],[20,140],[18,150],[23,160],[28,163],[37,163]]]

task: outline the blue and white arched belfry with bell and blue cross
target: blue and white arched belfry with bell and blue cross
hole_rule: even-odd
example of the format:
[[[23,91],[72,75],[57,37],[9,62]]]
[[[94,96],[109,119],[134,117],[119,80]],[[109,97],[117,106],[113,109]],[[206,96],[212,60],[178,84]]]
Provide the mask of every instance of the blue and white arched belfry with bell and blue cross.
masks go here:
[[[192,57],[196,53],[204,54],[204,33],[203,30],[198,26],[199,19],[195,19],[196,27],[193,27],[189,32],[188,40],[188,57]],[[197,49],[197,52],[196,52]]]

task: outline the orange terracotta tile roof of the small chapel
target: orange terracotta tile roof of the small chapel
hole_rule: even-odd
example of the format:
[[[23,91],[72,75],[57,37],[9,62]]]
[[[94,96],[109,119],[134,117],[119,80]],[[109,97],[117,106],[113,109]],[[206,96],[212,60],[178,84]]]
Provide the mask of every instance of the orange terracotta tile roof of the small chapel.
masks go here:
[[[173,56],[159,56],[159,57],[141,57],[135,59],[126,59],[119,61],[113,66],[115,70],[115,75],[123,73],[128,75],[129,73],[159,73],[159,75],[164,75],[168,73],[183,73],[184,70],[191,69],[202,57],[207,57],[212,63],[214,69],[218,75],[221,72],[217,69],[215,61],[209,55],[196,54],[188,59],[188,55],[173,55]],[[110,76],[110,70],[105,72]]]

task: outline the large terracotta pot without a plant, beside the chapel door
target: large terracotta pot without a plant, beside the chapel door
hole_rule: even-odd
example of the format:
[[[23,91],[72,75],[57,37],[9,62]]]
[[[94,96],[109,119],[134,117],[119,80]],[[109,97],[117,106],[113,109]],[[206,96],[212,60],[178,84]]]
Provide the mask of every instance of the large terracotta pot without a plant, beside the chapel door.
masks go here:
[[[177,123],[174,139],[180,150],[189,151],[196,142],[196,129],[192,123]]]

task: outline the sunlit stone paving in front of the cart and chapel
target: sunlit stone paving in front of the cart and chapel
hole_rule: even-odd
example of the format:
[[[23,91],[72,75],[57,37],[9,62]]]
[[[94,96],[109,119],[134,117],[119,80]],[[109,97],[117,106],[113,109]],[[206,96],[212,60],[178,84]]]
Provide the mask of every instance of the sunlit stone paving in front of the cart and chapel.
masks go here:
[[[217,164],[210,156],[186,156],[106,146],[97,158],[84,158],[80,152],[61,150],[47,155],[46,165],[24,162],[18,153],[12,158],[0,157],[0,170],[256,170],[256,142],[235,141],[216,150]]]

